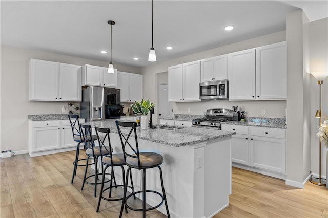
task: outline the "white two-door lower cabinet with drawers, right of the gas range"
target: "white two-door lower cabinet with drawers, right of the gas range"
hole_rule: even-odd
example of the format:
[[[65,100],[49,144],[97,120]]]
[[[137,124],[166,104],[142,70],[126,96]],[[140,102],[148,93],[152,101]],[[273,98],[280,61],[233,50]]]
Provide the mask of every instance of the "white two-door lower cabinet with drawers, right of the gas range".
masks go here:
[[[285,129],[222,124],[222,130],[236,132],[231,159],[237,167],[282,178],[274,173],[285,173]]]

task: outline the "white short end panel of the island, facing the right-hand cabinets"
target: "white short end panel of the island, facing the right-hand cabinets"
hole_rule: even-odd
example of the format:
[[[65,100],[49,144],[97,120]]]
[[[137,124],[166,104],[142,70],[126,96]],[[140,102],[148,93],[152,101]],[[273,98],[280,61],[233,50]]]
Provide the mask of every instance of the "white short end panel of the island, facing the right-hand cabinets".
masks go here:
[[[208,141],[205,146],[205,217],[229,205],[231,194],[231,136]]]

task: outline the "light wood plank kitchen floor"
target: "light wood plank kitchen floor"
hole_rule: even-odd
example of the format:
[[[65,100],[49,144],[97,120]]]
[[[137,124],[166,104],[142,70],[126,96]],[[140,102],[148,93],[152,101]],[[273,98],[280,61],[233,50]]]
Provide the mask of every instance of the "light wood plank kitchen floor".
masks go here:
[[[74,155],[71,151],[0,159],[0,217],[118,217],[120,201],[101,201],[99,213],[95,212],[98,198],[93,198],[93,186],[80,190],[83,167],[78,167],[70,184]],[[124,217],[140,216],[131,210],[124,213]],[[166,216],[153,210],[147,217]],[[328,217],[328,189],[309,182],[298,189],[283,180],[233,168],[229,206],[214,217]]]

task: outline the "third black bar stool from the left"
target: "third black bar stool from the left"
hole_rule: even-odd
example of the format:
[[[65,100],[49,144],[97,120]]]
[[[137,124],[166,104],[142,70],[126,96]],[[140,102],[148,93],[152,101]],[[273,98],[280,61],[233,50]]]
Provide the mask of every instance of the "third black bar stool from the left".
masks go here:
[[[98,137],[98,142],[99,142],[99,146],[103,146],[105,142],[108,141],[108,145],[109,145],[109,154],[104,155],[103,158],[101,159],[101,162],[103,163],[103,165],[105,166],[104,170],[103,170],[103,181],[101,183],[101,188],[100,188],[100,195],[99,195],[99,201],[98,201],[98,206],[97,206],[97,210],[96,212],[99,212],[99,207],[100,207],[100,201],[101,199],[104,199],[106,201],[120,201],[123,199],[123,197],[121,198],[111,198],[111,193],[112,193],[112,188],[115,187],[124,187],[125,186],[125,170],[124,170],[124,165],[125,165],[125,154],[124,153],[116,153],[113,154],[112,153],[112,146],[111,146],[111,141],[110,141],[110,132],[111,130],[109,128],[99,128],[99,127],[95,127],[96,130],[96,134]],[[102,138],[102,140],[101,140]],[[105,145],[104,145],[105,146]],[[114,167],[115,166],[120,166],[122,169],[122,180],[123,180],[123,185],[117,185],[116,184],[116,180],[115,180],[115,175],[114,175]],[[108,188],[104,189],[104,183],[105,183],[105,172],[107,170],[108,167],[111,167],[111,183],[110,186]],[[132,193],[134,192],[134,188],[133,188],[133,181],[132,181],[132,176],[131,177],[131,186],[128,186],[132,189]],[[112,185],[112,181],[114,180],[114,185]],[[103,193],[109,189],[109,197],[106,198],[103,196]],[[135,198],[135,195],[134,195]]]

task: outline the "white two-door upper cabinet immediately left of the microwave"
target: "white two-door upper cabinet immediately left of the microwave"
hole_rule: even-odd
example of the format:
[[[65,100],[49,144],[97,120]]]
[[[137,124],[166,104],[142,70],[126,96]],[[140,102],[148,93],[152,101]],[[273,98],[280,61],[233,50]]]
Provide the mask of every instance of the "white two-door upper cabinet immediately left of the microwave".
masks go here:
[[[169,101],[200,101],[200,61],[169,67]]]

